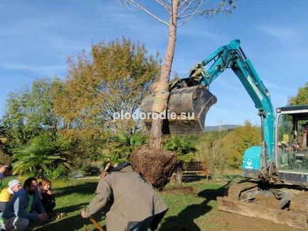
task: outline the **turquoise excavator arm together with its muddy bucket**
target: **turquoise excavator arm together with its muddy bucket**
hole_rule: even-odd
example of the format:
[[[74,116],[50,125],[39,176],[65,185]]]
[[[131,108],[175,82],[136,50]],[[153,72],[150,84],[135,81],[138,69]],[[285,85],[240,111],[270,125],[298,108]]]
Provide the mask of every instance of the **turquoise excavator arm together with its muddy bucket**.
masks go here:
[[[205,67],[209,68],[205,70]],[[175,118],[163,119],[164,134],[199,133],[204,131],[204,122],[209,108],[216,103],[216,96],[208,90],[212,81],[226,69],[232,69],[243,84],[249,96],[258,108],[262,123],[263,143],[261,147],[261,162],[253,169],[268,167],[273,162],[274,145],[274,114],[268,89],[260,80],[253,64],[241,50],[240,40],[231,40],[228,45],[219,47],[205,60],[199,62],[191,70],[189,78],[178,79],[170,84],[170,97],[166,116],[175,113]],[[141,102],[141,111],[151,113],[153,108],[153,95],[148,95]],[[190,117],[189,117],[190,116]],[[152,119],[144,120],[150,130]],[[256,158],[254,150],[251,155]],[[256,158],[258,159],[258,158]],[[251,160],[248,160],[251,162]],[[260,166],[259,166],[260,165]]]

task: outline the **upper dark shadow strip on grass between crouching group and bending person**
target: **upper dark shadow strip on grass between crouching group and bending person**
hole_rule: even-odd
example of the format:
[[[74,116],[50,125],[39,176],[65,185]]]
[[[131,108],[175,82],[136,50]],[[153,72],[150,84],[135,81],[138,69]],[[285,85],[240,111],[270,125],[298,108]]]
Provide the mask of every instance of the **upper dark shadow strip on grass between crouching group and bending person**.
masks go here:
[[[59,188],[55,192],[55,196],[66,196],[72,193],[78,194],[94,194],[97,189],[97,182],[85,182],[84,184],[78,184],[76,186],[68,186],[65,188]]]

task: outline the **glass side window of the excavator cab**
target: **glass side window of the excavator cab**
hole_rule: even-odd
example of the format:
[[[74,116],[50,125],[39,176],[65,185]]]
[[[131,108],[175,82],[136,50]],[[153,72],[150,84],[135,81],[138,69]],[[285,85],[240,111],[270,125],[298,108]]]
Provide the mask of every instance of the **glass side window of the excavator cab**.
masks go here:
[[[277,122],[277,166],[280,171],[308,172],[308,118],[281,114]]]

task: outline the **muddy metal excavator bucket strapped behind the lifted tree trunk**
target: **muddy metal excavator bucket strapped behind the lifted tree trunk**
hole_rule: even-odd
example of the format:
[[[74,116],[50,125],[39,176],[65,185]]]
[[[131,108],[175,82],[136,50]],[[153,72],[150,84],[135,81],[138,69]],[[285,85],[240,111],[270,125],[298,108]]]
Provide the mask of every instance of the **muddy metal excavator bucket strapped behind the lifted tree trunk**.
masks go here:
[[[209,108],[216,103],[216,96],[203,85],[172,89],[167,113],[163,118],[163,134],[201,133]],[[141,112],[152,113],[153,95],[148,95],[141,102]],[[152,118],[144,120],[150,130]]]

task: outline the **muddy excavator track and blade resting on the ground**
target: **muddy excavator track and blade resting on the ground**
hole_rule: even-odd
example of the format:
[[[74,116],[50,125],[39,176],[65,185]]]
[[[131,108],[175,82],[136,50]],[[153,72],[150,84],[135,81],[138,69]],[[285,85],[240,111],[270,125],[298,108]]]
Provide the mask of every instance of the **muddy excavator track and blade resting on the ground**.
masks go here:
[[[302,229],[308,227],[308,191],[263,188],[258,181],[245,181],[231,185],[228,195],[218,197],[217,203],[219,210],[229,213]]]

